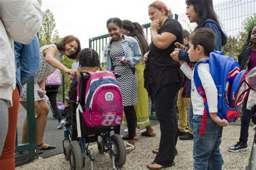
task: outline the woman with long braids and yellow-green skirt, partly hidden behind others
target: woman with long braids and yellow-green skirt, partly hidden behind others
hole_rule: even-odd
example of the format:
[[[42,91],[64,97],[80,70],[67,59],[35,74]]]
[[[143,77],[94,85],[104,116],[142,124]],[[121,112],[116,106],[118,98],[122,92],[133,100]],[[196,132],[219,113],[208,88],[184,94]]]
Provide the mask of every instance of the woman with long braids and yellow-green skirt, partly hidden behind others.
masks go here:
[[[147,43],[146,37],[143,32],[143,26],[137,22],[131,22],[129,20],[123,20],[123,32],[126,36],[131,36],[135,38],[139,44],[140,52],[144,55],[147,52]],[[138,77],[138,103],[134,106],[137,117],[137,126],[139,128],[146,127],[146,131],[142,132],[141,135],[146,137],[154,137],[156,133],[152,129],[149,121],[149,113],[151,111],[151,99],[147,94],[146,89],[144,88],[144,78],[143,71],[145,69],[145,63],[141,62],[135,65]],[[126,119],[123,119],[125,123]],[[127,138],[127,135],[123,139]],[[138,139],[135,132],[134,139]]]

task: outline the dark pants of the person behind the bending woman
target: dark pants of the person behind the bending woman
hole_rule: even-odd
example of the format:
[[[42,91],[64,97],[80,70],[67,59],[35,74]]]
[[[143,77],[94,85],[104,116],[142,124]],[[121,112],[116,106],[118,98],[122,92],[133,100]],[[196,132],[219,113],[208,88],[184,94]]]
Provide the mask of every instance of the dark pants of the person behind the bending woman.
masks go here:
[[[58,94],[58,86],[50,86],[45,87],[46,95],[49,97],[51,108],[54,112],[55,117],[58,119],[58,121],[62,120],[62,114],[59,111],[59,108],[57,106],[57,94]]]

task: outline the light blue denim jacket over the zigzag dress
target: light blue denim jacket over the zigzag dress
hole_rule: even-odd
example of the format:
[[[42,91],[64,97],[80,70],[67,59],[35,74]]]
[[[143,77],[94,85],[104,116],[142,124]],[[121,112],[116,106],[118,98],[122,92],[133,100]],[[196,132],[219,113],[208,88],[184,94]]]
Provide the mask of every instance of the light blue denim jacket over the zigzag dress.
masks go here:
[[[110,71],[112,68],[112,62],[110,58],[110,45],[113,39],[104,47],[104,57],[106,60],[106,70]],[[124,41],[122,42],[125,57],[129,59],[129,66],[135,67],[136,64],[142,62],[142,54],[140,53],[139,44],[133,37],[124,35]]]

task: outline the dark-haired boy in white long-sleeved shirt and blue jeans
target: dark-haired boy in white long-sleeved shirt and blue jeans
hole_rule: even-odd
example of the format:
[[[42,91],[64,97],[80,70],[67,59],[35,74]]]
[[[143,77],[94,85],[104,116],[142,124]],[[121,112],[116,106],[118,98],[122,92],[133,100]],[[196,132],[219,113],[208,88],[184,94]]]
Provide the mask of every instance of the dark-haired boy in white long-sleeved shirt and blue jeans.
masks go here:
[[[201,59],[208,59],[210,52],[213,51],[216,45],[216,37],[214,32],[208,28],[199,28],[191,34],[190,49],[188,56],[191,62],[198,62]],[[177,55],[174,51],[171,56]],[[204,87],[208,109],[211,118],[207,117],[205,133],[200,135],[201,124],[204,113],[204,100],[197,92],[193,80],[193,71],[190,67],[180,61],[180,69],[185,75],[191,79],[191,101],[193,105],[193,158],[194,169],[221,169],[223,165],[223,158],[220,153],[221,136],[223,126],[227,126],[227,120],[220,119],[217,116],[218,112],[218,93],[217,88],[210,74],[209,65],[201,63],[198,65],[198,74],[201,83]]]

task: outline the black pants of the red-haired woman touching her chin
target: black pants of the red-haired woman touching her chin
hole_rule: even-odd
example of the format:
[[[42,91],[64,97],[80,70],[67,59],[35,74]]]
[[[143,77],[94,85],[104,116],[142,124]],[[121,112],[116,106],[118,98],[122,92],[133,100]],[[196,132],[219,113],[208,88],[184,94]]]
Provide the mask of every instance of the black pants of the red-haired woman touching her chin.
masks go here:
[[[156,94],[156,113],[160,123],[161,137],[159,152],[154,162],[162,166],[170,165],[174,160],[178,132],[175,98],[180,87],[180,83],[170,83],[159,89]]]

